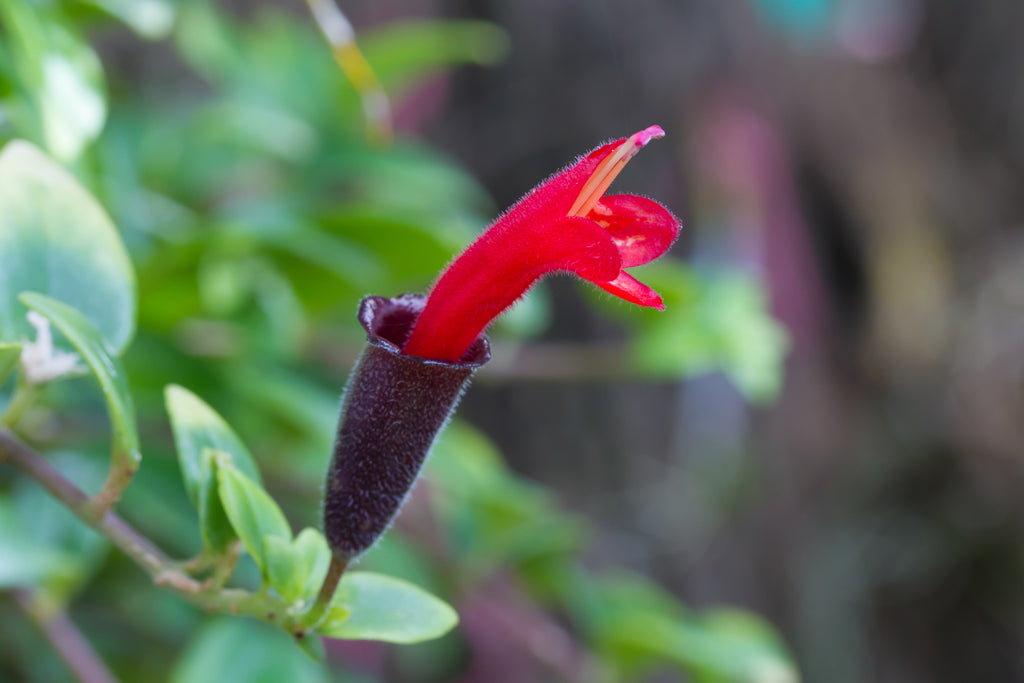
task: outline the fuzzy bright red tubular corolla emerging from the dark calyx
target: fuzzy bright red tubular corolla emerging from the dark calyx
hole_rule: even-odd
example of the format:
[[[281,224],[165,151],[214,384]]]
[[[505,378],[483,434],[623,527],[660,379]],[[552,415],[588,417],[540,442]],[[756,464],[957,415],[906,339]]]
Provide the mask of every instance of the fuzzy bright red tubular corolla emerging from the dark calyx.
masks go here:
[[[657,292],[624,268],[664,254],[679,221],[657,202],[604,196],[626,163],[663,135],[651,126],[604,144],[519,200],[441,274],[402,352],[458,361],[490,321],[552,271],[664,309]]]

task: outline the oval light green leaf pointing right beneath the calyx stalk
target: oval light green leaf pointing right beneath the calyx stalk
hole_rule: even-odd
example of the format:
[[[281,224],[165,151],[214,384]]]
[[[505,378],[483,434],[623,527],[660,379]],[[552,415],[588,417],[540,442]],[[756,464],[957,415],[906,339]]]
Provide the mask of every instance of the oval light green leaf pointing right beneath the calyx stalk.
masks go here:
[[[339,620],[332,611],[317,631],[330,638],[419,643],[455,628],[459,615],[443,600],[410,583],[369,571],[342,577],[332,605],[349,610]]]

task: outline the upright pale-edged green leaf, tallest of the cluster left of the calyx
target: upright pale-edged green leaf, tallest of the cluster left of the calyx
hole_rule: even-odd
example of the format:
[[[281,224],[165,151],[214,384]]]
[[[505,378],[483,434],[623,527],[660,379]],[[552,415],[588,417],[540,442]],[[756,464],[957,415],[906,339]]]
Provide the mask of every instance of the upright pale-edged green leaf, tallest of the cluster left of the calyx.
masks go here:
[[[231,463],[246,476],[260,482],[259,470],[249,450],[208,403],[176,384],[169,384],[164,389],[164,400],[167,414],[171,417],[171,430],[174,432],[185,490],[194,504],[199,505],[205,487],[216,485],[203,472],[201,456],[204,449],[227,454]]]

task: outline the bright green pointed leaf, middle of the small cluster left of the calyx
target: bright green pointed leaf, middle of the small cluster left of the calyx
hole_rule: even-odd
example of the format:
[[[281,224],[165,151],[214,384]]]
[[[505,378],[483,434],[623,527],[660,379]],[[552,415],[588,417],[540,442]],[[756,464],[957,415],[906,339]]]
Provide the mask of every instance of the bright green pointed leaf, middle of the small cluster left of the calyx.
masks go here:
[[[264,575],[268,572],[264,539],[278,537],[290,543],[292,529],[285,513],[263,488],[227,459],[217,459],[217,482],[224,512],[246,550]]]

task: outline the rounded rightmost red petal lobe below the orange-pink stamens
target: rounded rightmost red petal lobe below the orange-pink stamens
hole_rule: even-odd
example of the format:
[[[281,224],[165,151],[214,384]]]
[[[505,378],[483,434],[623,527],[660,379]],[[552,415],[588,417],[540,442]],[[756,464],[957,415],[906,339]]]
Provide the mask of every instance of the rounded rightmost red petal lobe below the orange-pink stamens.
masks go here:
[[[603,197],[587,217],[614,240],[624,268],[653,261],[679,236],[676,217],[657,202],[643,197]]]

